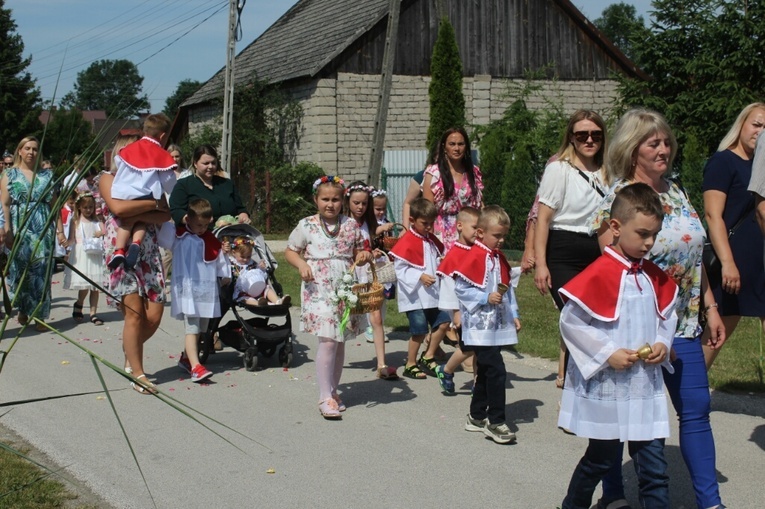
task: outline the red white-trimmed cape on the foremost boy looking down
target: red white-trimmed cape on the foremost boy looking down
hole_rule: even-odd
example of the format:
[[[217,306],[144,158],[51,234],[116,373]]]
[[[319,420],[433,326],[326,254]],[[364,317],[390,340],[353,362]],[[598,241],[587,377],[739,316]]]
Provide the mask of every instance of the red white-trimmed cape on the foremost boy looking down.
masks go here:
[[[667,312],[677,298],[677,285],[650,260],[641,260],[640,269],[648,276],[653,288],[656,312],[667,319]],[[559,290],[563,302],[569,299],[579,304],[590,316],[605,322],[619,318],[621,295],[630,262],[606,247],[603,254]]]

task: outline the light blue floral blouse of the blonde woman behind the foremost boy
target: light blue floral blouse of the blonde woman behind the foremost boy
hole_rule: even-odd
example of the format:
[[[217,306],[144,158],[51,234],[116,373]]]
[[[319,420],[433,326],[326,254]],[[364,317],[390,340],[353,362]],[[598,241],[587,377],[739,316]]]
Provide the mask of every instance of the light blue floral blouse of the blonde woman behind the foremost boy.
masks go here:
[[[661,267],[679,287],[675,336],[693,339],[701,334],[701,254],[706,232],[685,191],[671,180],[665,179],[665,182],[669,189],[659,193],[664,206],[664,222],[648,259]],[[614,183],[593,215],[590,223],[592,232],[598,231],[609,220],[616,192],[632,183],[627,180]]]

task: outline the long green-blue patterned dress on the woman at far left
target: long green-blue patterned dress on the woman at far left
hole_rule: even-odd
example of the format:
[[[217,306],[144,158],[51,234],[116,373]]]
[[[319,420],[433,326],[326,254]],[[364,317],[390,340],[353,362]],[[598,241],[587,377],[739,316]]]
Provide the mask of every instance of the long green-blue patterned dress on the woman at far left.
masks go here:
[[[11,225],[18,248],[8,267],[8,289],[19,312],[38,318],[50,316],[50,286],[53,268],[53,233],[56,222],[46,224],[53,198],[53,173],[39,170],[30,183],[18,168],[5,172],[8,178]],[[26,274],[25,274],[26,271]]]

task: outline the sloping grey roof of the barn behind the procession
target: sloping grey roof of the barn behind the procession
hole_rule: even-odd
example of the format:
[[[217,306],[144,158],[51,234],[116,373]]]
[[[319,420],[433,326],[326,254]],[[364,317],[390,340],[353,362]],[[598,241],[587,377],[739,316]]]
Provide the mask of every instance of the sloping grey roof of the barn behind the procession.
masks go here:
[[[300,0],[237,55],[235,82],[314,76],[386,16],[388,5],[389,0]],[[221,69],[183,106],[222,97],[223,81]]]

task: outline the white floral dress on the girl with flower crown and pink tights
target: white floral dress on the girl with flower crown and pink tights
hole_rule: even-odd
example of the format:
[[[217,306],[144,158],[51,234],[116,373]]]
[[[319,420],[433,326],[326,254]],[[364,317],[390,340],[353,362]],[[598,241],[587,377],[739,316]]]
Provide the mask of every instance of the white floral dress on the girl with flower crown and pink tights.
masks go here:
[[[351,315],[341,334],[340,319],[345,304],[334,304],[330,294],[351,268],[354,250],[363,249],[364,238],[354,219],[339,216],[338,224],[337,236],[330,237],[324,232],[318,215],[303,218],[292,230],[287,247],[301,253],[313,273],[313,281],[302,283],[300,330],[344,341],[358,335],[359,315]]]

